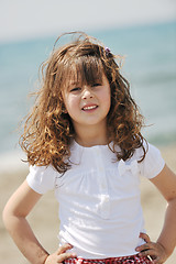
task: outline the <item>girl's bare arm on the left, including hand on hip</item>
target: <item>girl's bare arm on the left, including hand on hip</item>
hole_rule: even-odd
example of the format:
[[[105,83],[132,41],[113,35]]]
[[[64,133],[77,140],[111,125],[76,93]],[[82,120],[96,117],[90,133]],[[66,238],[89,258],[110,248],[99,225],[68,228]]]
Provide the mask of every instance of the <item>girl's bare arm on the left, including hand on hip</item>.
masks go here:
[[[26,217],[42,195],[32,190],[26,180],[12,195],[3,210],[3,222],[14,243],[33,264],[59,263],[74,254],[65,253],[72,246],[65,244],[50,255],[35,238]]]

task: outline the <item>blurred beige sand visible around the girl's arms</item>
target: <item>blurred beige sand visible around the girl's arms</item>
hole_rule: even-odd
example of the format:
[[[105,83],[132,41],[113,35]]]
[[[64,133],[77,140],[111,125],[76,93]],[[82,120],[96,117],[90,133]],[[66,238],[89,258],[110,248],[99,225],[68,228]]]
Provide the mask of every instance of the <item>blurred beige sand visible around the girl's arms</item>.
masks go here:
[[[163,157],[167,165],[176,173],[176,143],[169,146],[160,147]],[[12,161],[12,160],[11,160]],[[2,164],[3,163],[3,164]],[[24,180],[28,174],[26,166],[13,166],[11,163],[7,165],[3,161],[0,162],[0,211],[2,211],[6,201],[16,187]],[[141,183],[142,205],[145,217],[145,226],[147,233],[152,240],[156,240],[160,234],[166,202],[158,194],[156,188],[145,179]],[[46,194],[36,205],[29,217],[29,221],[43,244],[48,251],[53,252],[57,249],[57,233],[58,233],[58,218],[57,218],[57,202],[53,193]],[[4,264],[26,264],[29,263],[18,248],[12,242],[7,233],[2,220],[0,219],[0,263]],[[167,260],[166,264],[176,263],[176,250],[174,254]]]

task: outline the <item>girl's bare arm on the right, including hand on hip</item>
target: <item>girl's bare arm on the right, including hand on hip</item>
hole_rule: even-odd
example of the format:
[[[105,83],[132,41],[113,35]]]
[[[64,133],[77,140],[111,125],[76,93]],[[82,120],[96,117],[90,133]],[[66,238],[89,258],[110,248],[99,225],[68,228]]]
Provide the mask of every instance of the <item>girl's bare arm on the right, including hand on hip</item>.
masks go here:
[[[154,263],[164,263],[176,246],[176,175],[165,165],[163,170],[151,182],[157,187],[167,201],[163,230],[156,243],[152,243],[146,235],[143,239],[146,244],[139,251],[146,250],[141,254],[154,257]]]

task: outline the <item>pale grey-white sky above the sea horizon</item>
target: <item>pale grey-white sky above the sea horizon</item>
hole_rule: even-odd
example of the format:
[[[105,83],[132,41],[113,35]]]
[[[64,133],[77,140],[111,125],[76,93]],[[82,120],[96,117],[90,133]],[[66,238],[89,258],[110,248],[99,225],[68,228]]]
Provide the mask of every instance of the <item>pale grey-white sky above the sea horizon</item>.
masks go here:
[[[0,42],[176,20],[176,0],[0,0]]]

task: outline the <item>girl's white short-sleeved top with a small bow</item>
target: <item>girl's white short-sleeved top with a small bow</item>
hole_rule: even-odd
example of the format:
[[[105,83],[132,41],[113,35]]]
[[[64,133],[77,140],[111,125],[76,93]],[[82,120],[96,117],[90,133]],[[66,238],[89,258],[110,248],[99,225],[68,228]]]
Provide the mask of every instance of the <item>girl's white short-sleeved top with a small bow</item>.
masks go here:
[[[31,166],[28,183],[38,194],[55,189],[59,202],[59,243],[70,243],[77,256],[106,258],[136,254],[144,243],[140,176],[153,178],[164,167],[160,151],[148,144],[117,162],[107,145],[70,146],[72,168],[63,176],[52,166]]]

